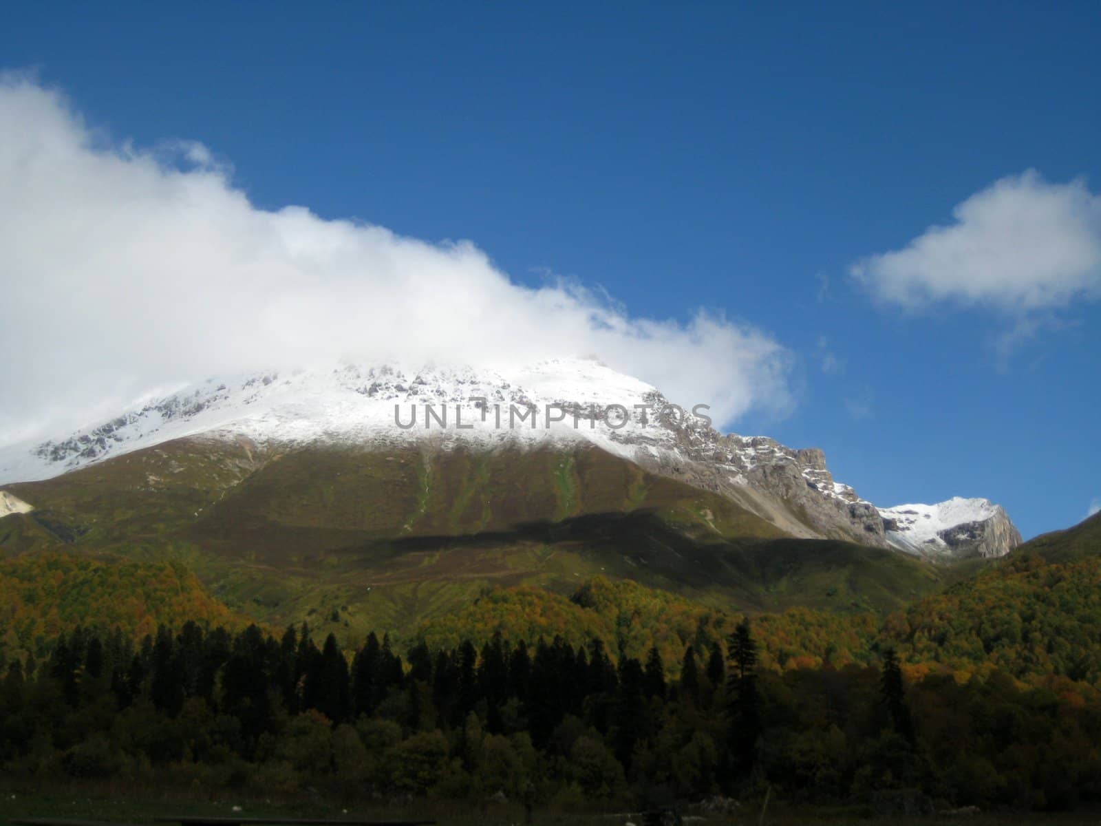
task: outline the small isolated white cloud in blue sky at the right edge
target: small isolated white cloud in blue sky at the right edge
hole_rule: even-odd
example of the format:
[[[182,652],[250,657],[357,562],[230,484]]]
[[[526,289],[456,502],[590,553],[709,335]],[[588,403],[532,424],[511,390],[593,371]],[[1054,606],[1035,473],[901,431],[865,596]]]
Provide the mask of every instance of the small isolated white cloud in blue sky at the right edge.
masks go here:
[[[1022,316],[1101,296],[1101,196],[1083,181],[1029,170],[998,181],[904,249],[851,274],[881,301],[919,311],[937,302]]]

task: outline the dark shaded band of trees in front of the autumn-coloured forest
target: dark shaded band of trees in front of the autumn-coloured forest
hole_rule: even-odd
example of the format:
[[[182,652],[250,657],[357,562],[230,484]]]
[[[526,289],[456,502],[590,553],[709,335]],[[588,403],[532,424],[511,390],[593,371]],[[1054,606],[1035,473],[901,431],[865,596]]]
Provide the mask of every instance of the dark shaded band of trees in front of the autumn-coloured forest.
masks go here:
[[[762,671],[748,622],[613,660],[562,639],[480,650],[371,634],[351,656],[308,628],[275,638],[188,622],[134,643],[76,630],[0,681],[12,776],[303,785],[355,797],[498,792],[545,803],[668,803],[766,786],[789,801],[1066,808],[1101,801],[1101,702],[1053,678],[909,683],[882,667]],[[166,771],[171,770],[171,771]]]

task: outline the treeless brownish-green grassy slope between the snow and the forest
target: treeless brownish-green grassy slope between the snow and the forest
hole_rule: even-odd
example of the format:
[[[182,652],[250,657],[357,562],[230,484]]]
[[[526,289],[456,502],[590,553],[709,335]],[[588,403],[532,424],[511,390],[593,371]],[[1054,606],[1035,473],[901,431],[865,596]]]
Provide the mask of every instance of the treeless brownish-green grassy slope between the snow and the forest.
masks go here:
[[[568,594],[600,574],[753,612],[892,609],[947,576],[890,552],[791,540],[591,447],[279,453],[182,439],[9,489],[36,510],[0,521],[4,553],[183,561],[235,609],[352,639],[408,631],[494,586]]]

